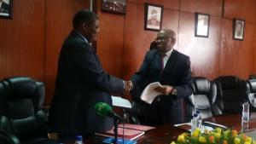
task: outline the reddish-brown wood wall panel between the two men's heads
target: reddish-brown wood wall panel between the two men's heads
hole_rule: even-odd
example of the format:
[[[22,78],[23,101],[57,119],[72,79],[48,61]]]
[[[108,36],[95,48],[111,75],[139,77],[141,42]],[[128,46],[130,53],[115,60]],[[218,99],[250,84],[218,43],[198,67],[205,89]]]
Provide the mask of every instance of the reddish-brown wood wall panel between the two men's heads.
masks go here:
[[[99,3],[99,8],[101,3]],[[106,72],[122,77],[124,45],[124,15],[110,14],[98,10],[100,33],[97,40],[97,55]]]

